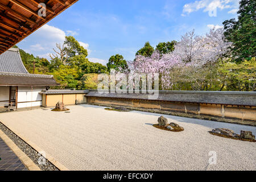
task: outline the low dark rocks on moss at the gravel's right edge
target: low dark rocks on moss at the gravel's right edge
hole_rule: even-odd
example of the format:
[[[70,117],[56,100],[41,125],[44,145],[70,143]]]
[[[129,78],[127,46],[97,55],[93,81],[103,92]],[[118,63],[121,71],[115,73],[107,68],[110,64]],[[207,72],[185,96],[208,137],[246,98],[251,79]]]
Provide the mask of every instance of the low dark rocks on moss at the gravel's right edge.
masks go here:
[[[241,131],[241,134],[236,134],[229,129],[214,129],[210,131],[210,134],[217,135],[219,137],[232,138],[237,140],[256,142],[255,136],[251,131]]]

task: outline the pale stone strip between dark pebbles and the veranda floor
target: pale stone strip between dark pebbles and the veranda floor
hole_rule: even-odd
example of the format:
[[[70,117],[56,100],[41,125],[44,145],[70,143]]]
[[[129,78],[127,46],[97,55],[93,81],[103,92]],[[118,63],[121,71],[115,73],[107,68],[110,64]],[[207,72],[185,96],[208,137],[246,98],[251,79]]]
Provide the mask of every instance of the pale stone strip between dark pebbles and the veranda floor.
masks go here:
[[[7,146],[14,152],[16,156],[21,160],[21,162],[28,168],[30,171],[42,171],[36,164],[28,158],[22,150],[11,140],[3,131],[0,130],[0,138],[7,144]]]

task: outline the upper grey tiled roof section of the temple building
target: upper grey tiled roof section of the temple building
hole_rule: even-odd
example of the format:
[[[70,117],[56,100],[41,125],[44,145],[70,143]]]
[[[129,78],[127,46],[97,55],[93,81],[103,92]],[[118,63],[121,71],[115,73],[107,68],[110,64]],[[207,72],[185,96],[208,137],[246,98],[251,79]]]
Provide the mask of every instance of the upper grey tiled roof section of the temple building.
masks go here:
[[[0,55],[0,72],[28,73],[22,63],[18,48],[10,48]]]

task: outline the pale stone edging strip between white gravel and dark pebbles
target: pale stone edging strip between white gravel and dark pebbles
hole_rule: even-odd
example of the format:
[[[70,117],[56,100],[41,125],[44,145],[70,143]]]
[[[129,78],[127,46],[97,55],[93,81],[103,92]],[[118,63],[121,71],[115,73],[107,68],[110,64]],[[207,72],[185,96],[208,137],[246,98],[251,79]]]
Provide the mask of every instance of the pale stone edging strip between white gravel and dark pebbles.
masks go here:
[[[2,123],[2,122],[1,122]],[[20,135],[20,133],[14,129],[12,129],[11,127],[9,127],[6,124],[2,125],[6,126],[9,130],[13,131],[13,133],[15,135],[17,135],[20,139],[22,139],[24,142],[26,142],[28,145],[30,145],[32,148],[34,148],[34,150],[36,150],[37,152],[39,151],[43,151],[42,148],[38,147],[35,143],[31,142],[31,140],[28,140],[26,137],[23,137],[22,135]],[[1,130],[0,130],[1,131]],[[2,132],[2,131],[1,131]],[[6,136],[7,137],[7,136]],[[13,142],[13,141],[12,141]],[[28,158],[29,159],[29,158]],[[51,155],[46,153],[46,159],[51,162],[56,168],[58,168],[60,171],[70,171],[67,167],[65,167],[63,164],[57,162],[56,159],[54,159]],[[31,160],[31,159],[30,159]],[[32,160],[31,160],[32,161]]]

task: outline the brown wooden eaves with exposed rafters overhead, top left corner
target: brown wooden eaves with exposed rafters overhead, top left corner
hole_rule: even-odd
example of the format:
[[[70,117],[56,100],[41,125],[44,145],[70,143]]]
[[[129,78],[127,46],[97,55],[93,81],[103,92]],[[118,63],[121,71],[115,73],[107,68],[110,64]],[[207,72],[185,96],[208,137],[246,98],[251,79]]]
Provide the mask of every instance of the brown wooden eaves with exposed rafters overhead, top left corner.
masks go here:
[[[78,0],[0,0],[0,54],[42,27]],[[46,5],[46,16],[39,16]]]

